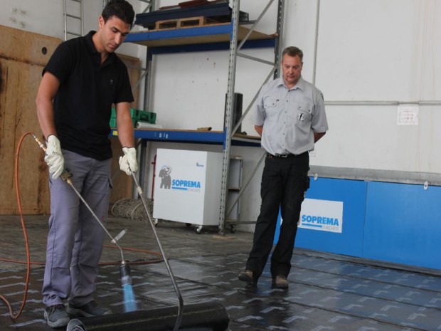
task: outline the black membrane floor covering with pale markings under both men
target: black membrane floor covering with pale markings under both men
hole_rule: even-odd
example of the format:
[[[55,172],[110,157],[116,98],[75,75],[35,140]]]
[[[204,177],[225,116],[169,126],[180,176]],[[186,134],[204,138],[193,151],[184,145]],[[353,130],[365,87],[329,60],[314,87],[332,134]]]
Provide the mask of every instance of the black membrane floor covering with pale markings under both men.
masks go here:
[[[221,302],[230,315],[229,330],[441,330],[437,275],[297,254],[289,289],[272,288],[265,270],[257,288],[248,290],[237,278],[245,259],[237,253],[171,260],[184,305]],[[25,271],[0,269],[0,294],[14,311],[21,305]],[[177,305],[164,263],[132,266],[132,278],[139,310]],[[28,300],[15,322],[0,303],[0,330],[51,330],[43,320],[42,283],[43,268],[33,268]],[[121,313],[122,298],[118,266],[100,267],[97,302]]]

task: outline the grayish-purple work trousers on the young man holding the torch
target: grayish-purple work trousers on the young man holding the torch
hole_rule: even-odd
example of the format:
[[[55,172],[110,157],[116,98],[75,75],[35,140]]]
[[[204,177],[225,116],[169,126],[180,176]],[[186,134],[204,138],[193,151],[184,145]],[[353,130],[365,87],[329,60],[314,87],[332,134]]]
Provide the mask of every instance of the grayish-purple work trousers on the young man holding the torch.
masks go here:
[[[111,191],[112,159],[97,161],[63,149],[65,168],[73,174],[73,185],[105,224]],[[93,300],[97,266],[105,231],[73,188],[59,177],[49,176],[49,218],[43,303],[46,306],[69,300],[85,305]]]

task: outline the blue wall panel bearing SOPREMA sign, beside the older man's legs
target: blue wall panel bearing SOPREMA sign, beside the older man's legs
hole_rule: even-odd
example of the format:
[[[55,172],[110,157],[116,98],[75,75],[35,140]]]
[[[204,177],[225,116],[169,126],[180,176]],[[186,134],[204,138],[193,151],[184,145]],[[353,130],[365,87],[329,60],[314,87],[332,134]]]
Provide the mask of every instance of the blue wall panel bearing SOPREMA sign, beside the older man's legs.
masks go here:
[[[349,256],[363,253],[367,183],[311,177],[295,246]],[[307,204],[306,204],[307,202]],[[311,204],[313,203],[313,204]],[[309,206],[305,211],[306,205]],[[317,208],[316,208],[317,206]],[[341,208],[340,214],[336,209]],[[279,238],[277,222],[275,243]]]

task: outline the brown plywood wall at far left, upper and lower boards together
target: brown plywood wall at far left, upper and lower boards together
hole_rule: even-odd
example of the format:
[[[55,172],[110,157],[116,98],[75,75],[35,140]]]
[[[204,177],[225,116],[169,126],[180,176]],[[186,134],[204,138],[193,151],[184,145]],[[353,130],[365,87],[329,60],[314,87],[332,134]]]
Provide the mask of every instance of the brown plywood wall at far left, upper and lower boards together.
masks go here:
[[[35,98],[41,70],[60,39],[0,26],[0,214],[18,214],[15,159],[26,132],[42,137]],[[18,183],[24,214],[48,214],[43,152],[28,135],[19,153]]]

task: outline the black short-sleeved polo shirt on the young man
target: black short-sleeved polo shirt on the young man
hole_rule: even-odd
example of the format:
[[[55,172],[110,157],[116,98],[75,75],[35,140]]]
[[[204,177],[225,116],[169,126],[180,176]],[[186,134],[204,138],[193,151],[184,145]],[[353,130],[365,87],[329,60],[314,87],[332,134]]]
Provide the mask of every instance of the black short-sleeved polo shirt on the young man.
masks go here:
[[[112,157],[112,104],[134,99],[126,65],[114,53],[101,64],[94,33],[60,43],[43,74],[48,71],[60,80],[53,105],[61,148],[104,160]]]

